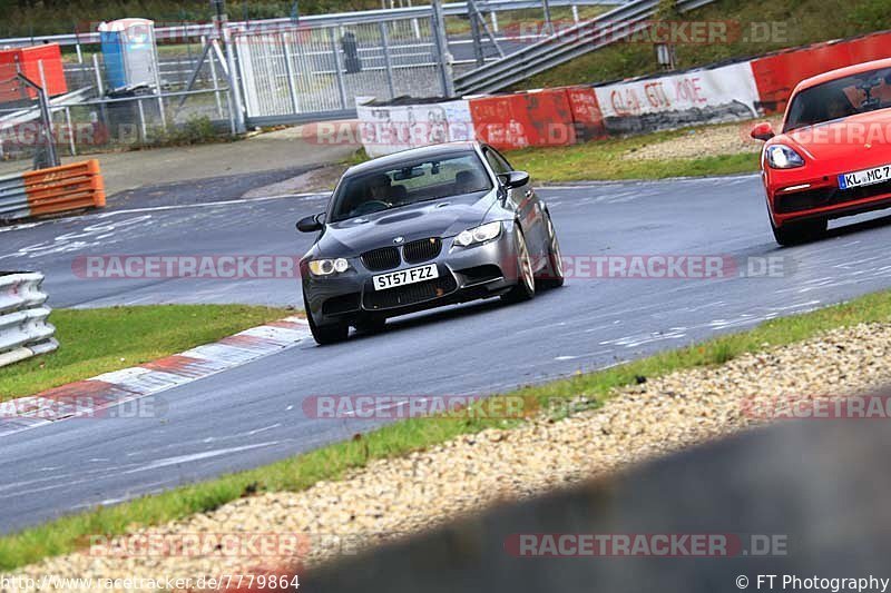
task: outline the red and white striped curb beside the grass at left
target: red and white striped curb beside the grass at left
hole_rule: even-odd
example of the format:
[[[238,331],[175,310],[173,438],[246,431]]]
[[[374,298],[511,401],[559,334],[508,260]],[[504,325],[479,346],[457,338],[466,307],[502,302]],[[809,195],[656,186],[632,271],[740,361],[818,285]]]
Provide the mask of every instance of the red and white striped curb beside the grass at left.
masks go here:
[[[99,411],[235,368],[310,337],[305,319],[286,317],[144,365],[0,402],[0,436],[66,418],[96,417]]]

